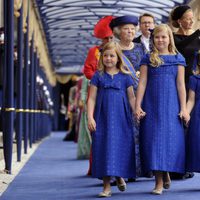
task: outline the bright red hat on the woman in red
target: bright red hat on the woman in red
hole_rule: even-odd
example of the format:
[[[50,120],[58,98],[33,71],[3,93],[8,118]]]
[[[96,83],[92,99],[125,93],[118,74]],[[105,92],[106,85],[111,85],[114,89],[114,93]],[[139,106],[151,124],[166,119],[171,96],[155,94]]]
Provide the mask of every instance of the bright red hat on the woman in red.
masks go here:
[[[114,19],[113,16],[105,16],[101,18],[94,26],[94,36],[99,39],[112,36],[113,32],[110,28],[110,22]]]

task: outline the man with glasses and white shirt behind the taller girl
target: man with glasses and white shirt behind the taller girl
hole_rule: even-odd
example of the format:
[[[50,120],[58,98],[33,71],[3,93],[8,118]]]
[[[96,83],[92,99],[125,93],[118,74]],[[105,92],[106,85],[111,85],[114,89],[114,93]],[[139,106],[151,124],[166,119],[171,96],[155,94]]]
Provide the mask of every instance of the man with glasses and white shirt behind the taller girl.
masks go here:
[[[133,40],[135,43],[144,45],[146,52],[150,51],[150,30],[155,27],[155,18],[152,14],[144,13],[139,17],[141,35]]]

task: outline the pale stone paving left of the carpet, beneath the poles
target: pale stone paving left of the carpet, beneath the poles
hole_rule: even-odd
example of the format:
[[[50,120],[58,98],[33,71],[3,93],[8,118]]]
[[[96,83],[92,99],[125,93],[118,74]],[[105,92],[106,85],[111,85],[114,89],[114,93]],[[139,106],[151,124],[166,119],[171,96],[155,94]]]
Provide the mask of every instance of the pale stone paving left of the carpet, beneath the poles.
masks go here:
[[[14,180],[15,176],[20,172],[20,170],[23,168],[25,163],[29,160],[29,158],[34,153],[34,151],[37,149],[37,147],[39,146],[40,143],[33,144],[32,148],[28,149],[27,154],[22,154],[21,162],[17,162],[17,154],[13,153],[12,173],[11,174],[4,173],[5,163],[4,163],[4,160],[0,160],[0,196],[3,194],[3,192],[9,186],[9,184]]]

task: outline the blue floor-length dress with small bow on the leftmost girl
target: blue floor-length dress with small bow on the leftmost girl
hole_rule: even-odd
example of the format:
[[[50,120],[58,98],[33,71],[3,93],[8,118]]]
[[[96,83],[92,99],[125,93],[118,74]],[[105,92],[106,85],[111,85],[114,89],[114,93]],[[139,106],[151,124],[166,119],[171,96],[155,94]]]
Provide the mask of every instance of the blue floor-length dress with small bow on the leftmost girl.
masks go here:
[[[133,120],[127,88],[133,85],[130,75],[96,72],[91,85],[97,90],[95,121],[92,133],[92,176],[135,177]]]

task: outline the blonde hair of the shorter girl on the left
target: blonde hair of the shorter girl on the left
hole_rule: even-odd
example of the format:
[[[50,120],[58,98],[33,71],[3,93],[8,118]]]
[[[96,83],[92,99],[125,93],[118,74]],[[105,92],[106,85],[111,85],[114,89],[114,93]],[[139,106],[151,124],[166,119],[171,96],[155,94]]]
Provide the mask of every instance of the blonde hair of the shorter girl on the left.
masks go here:
[[[105,72],[105,65],[103,64],[103,54],[106,50],[114,50],[117,54],[117,57],[118,57],[116,67],[119,69],[120,72],[122,72],[124,74],[130,74],[130,72],[127,71],[127,69],[125,68],[125,63],[123,61],[123,56],[122,56],[123,54],[122,54],[122,51],[120,49],[120,46],[117,42],[114,42],[114,41],[108,42],[107,44],[104,45],[104,47],[101,51],[101,55],[100,55],[100,58],[99,58],[97,69],[100,72]]]

